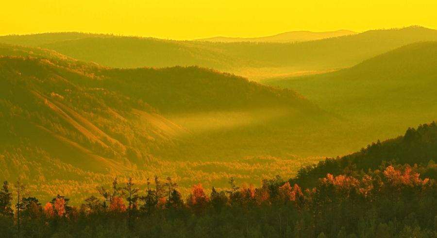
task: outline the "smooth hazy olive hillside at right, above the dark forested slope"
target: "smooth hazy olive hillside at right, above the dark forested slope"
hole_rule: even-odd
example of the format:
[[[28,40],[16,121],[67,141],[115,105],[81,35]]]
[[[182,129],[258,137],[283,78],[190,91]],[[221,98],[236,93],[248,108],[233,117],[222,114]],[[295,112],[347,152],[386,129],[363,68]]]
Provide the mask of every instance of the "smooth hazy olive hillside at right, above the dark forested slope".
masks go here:
[[[356,121],[362,136],[386,139],[437,118],[436,66],[437,43],[423,42],[352,68],[269,84],[296,90],[323,109]]]

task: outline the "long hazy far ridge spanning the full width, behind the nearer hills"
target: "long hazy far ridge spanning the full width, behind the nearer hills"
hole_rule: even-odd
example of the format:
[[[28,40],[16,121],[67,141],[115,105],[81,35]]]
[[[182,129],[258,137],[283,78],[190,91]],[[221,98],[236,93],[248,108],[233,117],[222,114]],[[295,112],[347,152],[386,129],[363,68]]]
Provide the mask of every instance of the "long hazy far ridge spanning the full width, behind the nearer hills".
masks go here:
[[[300,43],[173,41],[69,33],[0,37],[0,42],[48,48],[108,67],[195,65],[253,80],[348,68],[403,45],[430,40],[437,40],[437,31],[423,27],[373,30]]]

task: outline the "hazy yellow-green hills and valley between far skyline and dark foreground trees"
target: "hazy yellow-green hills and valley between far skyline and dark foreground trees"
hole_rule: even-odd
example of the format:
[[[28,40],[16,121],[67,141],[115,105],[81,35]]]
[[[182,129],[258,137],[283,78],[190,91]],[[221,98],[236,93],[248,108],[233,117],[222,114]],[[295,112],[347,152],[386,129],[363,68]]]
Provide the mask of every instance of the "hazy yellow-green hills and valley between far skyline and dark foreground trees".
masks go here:
[[[435,39],[421,27],[291,44],[2,36],[1,172],[49,188],[64,174],[92,180],[90,190],[114,174],[177,174],[187,186],[293,174],[432,121],[437,48],[420,42]],[[236,73],[242,65],[291,74],[346,69],[262,81],[279,88],[199,68]],[[284,163],[292,165],[283,170]]]

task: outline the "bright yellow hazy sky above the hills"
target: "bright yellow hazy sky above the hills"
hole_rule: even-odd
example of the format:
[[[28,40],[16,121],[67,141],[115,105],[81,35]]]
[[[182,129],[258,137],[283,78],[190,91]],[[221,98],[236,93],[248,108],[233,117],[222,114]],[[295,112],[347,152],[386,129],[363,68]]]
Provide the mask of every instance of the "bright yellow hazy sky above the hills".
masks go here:
[[[436,0],[4,0],[0,34],[80,31],[194,39],[421,25]]]

